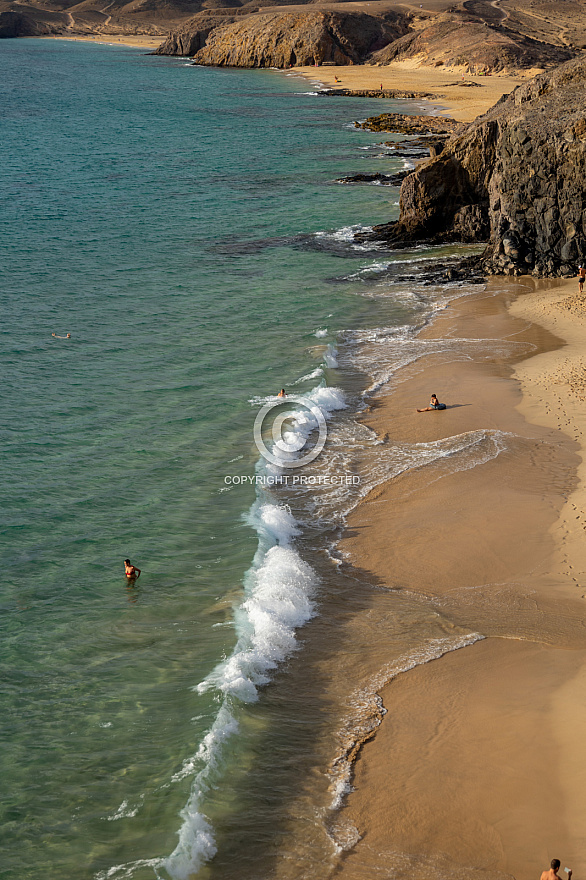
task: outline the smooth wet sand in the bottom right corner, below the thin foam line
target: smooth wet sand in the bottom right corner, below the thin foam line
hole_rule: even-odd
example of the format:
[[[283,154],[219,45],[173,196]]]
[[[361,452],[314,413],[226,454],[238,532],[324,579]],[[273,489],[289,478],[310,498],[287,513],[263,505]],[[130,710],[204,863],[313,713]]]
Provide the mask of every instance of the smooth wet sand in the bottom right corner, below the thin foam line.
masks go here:
[[[584,705],[583,661],[487,639],[399,676],[349,799],[362,840],[336,876],[530,878],[553,857],[579,865],[586,791],[570,774],[586,725],[571,703]]]

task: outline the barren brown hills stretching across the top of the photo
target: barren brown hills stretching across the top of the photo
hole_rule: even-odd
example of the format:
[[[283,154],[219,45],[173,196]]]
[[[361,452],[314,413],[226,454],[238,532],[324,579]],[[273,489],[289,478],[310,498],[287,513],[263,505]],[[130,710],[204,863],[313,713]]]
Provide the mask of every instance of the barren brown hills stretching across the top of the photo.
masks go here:
[[[145,35],[199,64],[548,68],[586,46],[586,0],[0,0],[0,37]],[[167,39],[164,39],[167,37]]]

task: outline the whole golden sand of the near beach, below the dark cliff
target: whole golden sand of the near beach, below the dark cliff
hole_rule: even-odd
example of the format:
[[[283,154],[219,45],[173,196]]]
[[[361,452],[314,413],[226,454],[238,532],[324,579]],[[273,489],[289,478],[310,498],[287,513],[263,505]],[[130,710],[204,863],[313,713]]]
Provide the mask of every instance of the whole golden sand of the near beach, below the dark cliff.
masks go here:
[[[576,281],[494,280],[456,302],[428,336],[494,339],[494,357],[424,358],[368,417],[395,441],[480,428],[509,440],[467,471],[406,473],[350,519],[342,547],[357,568],[487,638],[382,688],[387,715],[341,813],[361,838],[342,880],[529,880],[553,857],[578,869],[586,857],[586,305],[576,294]],[[521,344],[516,355],[499,353],[503,339]],[[539,353],[519,361],[527,344]],[[448,410],[416,413],[431,391]]]

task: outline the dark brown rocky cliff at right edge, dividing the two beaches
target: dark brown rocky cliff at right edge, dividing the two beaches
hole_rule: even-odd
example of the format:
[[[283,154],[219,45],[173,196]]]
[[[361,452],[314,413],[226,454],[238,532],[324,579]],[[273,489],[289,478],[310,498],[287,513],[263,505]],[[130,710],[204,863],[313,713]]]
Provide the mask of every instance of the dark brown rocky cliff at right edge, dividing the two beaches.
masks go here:
[[[489,273],[575,274],[586,258],[586,55],[519,86],[401,187],[373,237],[486,241]]]

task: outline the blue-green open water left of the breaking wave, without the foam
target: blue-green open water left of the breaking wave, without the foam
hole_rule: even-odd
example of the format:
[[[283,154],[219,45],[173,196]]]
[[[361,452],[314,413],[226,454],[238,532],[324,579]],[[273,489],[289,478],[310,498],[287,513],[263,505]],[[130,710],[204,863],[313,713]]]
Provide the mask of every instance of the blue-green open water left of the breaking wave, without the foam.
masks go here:
[[[0,68],[0,876],[187,876],[165,859],[258,549],[254,489],[223,491],[255,401],[343,387],[340,331],[417,314],[363,295],[379,257],[349,243],[397,190],[332,183],[381,169],[350,123],[391,102],[65,41]]]

